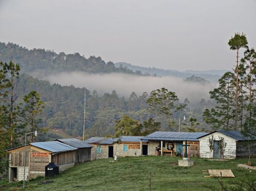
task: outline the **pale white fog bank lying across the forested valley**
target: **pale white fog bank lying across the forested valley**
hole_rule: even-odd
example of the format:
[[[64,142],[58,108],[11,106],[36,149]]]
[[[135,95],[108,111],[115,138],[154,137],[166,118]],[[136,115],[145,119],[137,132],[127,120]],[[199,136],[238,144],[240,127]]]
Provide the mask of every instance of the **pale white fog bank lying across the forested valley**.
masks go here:
[[[35,74],[38,77],[38,74]],[[198,83],[187,83],[183,78],[176,77],[150,77],[134,76],[129,74],[89,74],[85,72],[61,72],[55,75],[39,77],[48,80],[51,84],[74,85],[75,87],[86,87],[91,92],[95,89],[99,95],[116,90],[119,96],[129,98],[131,92],[141,95],[161,87],[176,92],[182,102],[186,97],[190,101],[200,101],[202,98],[209,99],[209,91],[213,88],[211,84],[201,85]]]

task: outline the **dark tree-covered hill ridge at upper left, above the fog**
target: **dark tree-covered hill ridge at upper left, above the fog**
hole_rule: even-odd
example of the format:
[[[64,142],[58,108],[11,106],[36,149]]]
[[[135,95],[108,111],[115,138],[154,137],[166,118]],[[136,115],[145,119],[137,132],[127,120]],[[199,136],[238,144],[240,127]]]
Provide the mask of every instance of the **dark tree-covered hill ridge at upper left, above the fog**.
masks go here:
[[[84,71],[88,73],[128,73],[132,75],[143,75],[140,71],[133,72],[127,67],[115,67],[109,61],[105,63],[101,57],[90,56],[85,58],[79,53],[66,54],[55,53],[53,50],[36,49],[31,50],[13,43],[0,42],[0,61],[19,63],[21,72],[72,72]]]

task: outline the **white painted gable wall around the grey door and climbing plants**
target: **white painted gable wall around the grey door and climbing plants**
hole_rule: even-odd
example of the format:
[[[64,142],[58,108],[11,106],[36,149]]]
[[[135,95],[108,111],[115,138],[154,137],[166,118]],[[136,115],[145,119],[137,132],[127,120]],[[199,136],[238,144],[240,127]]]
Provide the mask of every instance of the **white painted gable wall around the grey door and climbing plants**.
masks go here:
[[[226,136],[219,132],[214,132],[210,135],[203,136],[199,138],[200,141],[200,157],[201,158],[213,158],[213,151],[210,153],[209,148],[209,138],[215,139],[219,141],[219,136],[224,137],[224,141],[226,143],[225,151],[224,151],[224,159],[234,159],[236,157],[236,140],[231,138],[230,136]]]

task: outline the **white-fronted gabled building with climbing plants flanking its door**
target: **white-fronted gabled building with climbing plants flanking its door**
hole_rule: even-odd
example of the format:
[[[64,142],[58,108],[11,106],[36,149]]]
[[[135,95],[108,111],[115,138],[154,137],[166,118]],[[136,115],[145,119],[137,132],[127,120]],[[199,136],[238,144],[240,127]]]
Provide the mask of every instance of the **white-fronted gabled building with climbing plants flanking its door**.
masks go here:
[[[213,159],[234,159],[236,157],[248,157],[248,139],[244,138],[240,131],[216,130],[199,137],[200,157]],[[255,141],[249,142],[251,157],[256,157]],[[212,141],[212,150],[209,142]],[[221,142],[224,148],[221,148]]]

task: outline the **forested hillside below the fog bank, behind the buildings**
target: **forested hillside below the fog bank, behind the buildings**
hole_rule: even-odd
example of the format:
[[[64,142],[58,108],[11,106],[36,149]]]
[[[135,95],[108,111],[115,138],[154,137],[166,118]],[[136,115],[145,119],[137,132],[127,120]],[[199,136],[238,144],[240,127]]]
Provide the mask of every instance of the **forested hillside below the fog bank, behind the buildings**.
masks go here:
[[[96,90],[90,92],[85,88],[76,88],[71,86],[61,86],[58,84],[49,84],[47,81],[38,80],[27,74],[21,74],[16,83],[16,94],[21,99],[31,90],[36,90],[45,102],[45,108],[42,111],[41,126],[47,126],[51,129],[60,129],[73,136],[82,136],[84,121],[84,91],[86,90],[86,136],[106,136],[113,135],[115,121],[122,118],[123,115],[131,116],[132,119],[140,123],[148,120],[150,117],[156,121],[162,122],[162,130],[167,130],[167,122],[161,116],[154,116],[148,110],[146,103],[150,92],[144,92],[142,95],[136,95],[131,92],[129,99],[119,97],[118,92],[113,90],[99,96]],[[196,104],[190,104],[188,99],[180,101],[187,104],[186,108],[172,115],[173,123],[171,130],[178,131],[178,121],[181,119],[180,127],[190,126],[188,120],[183,117],[197,118],[200,122],[199,127],[206,128],[202,120],[202,112],[205,107],[211,109],[214,104],[211,101],[205,101]],[[191,107],[190,105],[193,105]],[[185,129],[184,129],[185,130]]]

